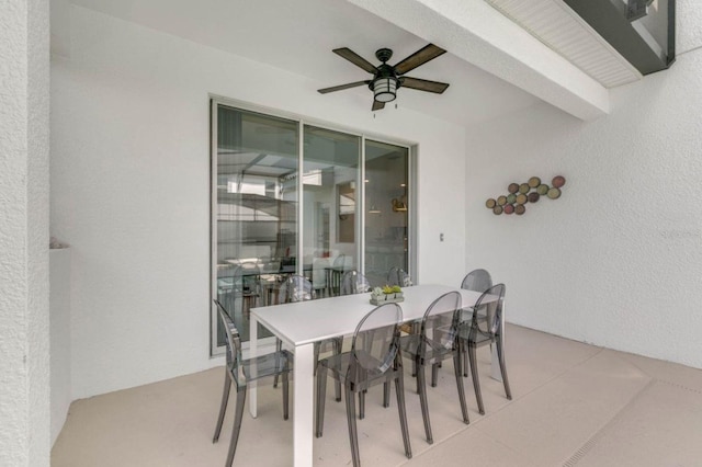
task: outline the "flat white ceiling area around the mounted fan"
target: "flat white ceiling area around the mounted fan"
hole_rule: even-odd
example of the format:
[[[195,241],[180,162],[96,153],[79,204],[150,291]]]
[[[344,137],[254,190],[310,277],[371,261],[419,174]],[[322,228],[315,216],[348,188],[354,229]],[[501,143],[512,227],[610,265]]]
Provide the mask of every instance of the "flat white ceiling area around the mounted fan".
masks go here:
[[[57,53],[68,44],[70,3],[305,76],[316,80],[318,88],[370,77],[332,54],[333,48],[349,47],[376,64],[375,50],[388,47],[395,53],[390,60],[394,64],[428,43],[347,0],[52,0],[52,47]],[[458,58],[452,54],[452,44],[432,42],[449,53],[408,76],[451,86],[440,95],[400,89],[398,106],[468,126],[540,101],[465,57]],[[460,54],[457,47],[454,49]],[[338,93],[356,95],[355,104],[371,112],[372,93],[367,88]],[[322,98],[335,105],[341,102],[338,93]],[[381,112],[392,112],[392,106]]]

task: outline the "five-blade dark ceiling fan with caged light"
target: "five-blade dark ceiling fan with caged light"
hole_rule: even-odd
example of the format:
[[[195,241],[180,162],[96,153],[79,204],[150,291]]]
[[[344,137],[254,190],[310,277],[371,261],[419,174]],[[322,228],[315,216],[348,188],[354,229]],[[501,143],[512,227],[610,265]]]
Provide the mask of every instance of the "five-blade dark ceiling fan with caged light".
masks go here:
[[[373,106],[371,109],[373,111],[381,110],[385,107],[386,102],[394,101],[397,96],[397,89],[400,87],[434,92],[437,94],[441,94],[446,90],[446,88],[449,88],[449,84],[445,82],[429,81],[426,79],[404,76],[406,72],[414,70],[420,65],[445,54],[446,50],[441,47],[437,47],[433,44],[426,45],[395,66],[387,65],[387,60],[393,56],[393,50],[389,48],[381,48],[375,53],[375,57],[382,61],[377,67],[373,66],[373,64],[348,47],[335,48],[331,52],[346,58],[353,65],[363,68],[365,71],[373,73],[373,79],[333,86],[331,88],[320,89],[318,92],[326,94],[328,92],[341,91],[343,89],[366,84],[371,91],[373,91]]]

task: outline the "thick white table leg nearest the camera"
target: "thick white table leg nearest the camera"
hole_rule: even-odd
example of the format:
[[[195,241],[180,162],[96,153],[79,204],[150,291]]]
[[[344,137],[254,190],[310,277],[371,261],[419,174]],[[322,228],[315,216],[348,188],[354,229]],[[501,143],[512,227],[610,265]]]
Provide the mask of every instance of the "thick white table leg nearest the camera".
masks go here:
[[[312,467],[315,412],[314,344],[295,348],[293,375],[293,455],[295,467]]]

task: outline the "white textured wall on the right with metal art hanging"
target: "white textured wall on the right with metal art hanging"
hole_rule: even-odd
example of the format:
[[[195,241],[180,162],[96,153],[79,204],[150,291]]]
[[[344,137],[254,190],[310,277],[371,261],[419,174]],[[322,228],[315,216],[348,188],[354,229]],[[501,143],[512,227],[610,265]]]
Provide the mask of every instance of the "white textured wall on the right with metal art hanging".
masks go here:
[[[611,115],[544,104],[467,132],[466,263],[507,284],[509,321],[702,367],[702,18],[678,18],[677,62],[613,90]],[[556,174],[559,200],[485,207]]]

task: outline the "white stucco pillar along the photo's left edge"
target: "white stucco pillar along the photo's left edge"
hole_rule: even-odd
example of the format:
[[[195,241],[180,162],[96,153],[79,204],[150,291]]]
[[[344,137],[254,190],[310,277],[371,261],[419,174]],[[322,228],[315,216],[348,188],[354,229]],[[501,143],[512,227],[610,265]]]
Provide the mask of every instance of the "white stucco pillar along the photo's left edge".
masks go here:
[[[48,2],[0,11],[0,465],[48,466]]]

